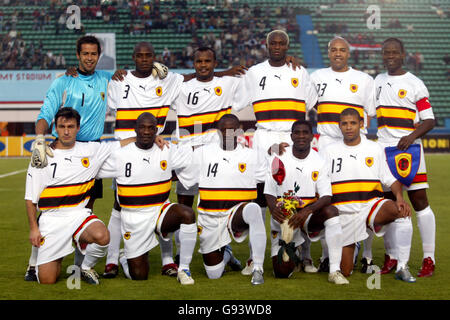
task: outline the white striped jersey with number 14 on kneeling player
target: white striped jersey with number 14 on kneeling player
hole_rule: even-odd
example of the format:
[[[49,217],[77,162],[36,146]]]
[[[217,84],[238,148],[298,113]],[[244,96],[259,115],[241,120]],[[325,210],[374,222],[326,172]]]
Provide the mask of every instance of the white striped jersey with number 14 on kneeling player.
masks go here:
[[[238,144],[225,151],[211,143],[195,149],[189,169],[190,185],[199,184],[198,212],[225,215],[236,204],[256,199],[256,184],[264,182],[267,163],[254,149]]]

